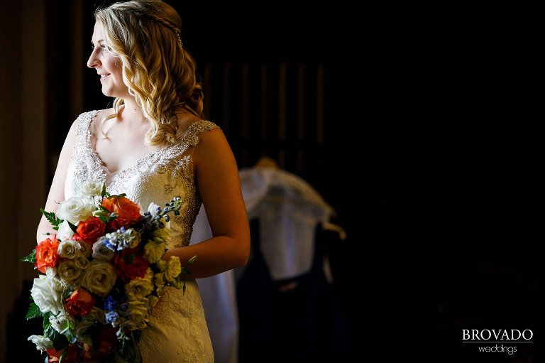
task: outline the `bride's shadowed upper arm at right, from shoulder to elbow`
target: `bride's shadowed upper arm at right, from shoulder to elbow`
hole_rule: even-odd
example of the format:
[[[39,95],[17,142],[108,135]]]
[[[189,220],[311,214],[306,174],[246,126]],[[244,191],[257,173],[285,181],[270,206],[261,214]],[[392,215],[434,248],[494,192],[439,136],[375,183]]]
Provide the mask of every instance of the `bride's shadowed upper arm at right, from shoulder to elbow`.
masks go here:
[[[249,251],[249,227],[233,151],[221,129],[199,135],[194,170],[212,235],[240,241]]]

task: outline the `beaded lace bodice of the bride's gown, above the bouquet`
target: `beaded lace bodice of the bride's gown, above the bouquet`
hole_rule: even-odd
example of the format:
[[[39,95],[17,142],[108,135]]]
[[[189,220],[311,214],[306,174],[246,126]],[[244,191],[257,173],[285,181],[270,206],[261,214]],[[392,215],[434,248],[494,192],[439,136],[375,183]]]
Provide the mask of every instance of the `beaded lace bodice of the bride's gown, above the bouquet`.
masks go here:
[[[199,134],[216,129],[211,121],[197,121],[189,126],[177,143],[164,146],[158,151],[139,158],[132,166],[111,173],[94,150],[89,125],[97,111],[79,115],[75,131],[75,146],[67,171],[65,198],[75,194],[84,180],[96,179],[106,182],[111,195],[125,193],[143,210],[151,202],[163,206],[173,197],[182,197],[184,204],[179,216],[172,216],[171,239],[167,248],[187,246],[191,238],[192,225],[199,213],[201,199],[194,183],[191,151],[199,143]]]

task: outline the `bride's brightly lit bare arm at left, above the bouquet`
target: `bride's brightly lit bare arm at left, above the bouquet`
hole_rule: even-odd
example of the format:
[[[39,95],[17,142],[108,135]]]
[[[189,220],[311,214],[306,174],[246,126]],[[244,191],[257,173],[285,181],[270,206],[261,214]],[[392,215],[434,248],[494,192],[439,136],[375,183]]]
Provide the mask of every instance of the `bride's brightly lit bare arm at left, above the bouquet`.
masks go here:
[[[70,131],[68,131],[65,143],[62,145],[59,161],[57,162],[57,168],[55,169],[55,175],[53,176],[53,182],[51,183],[49,189],[48,199],[46,200],[45,207],[43,208],[47,212],[57,212],[58,203],[65,200],[65,181],[68,165],[70,164],[70,158],[72,156],[72,148],[74,148],[77,124],[79,124],[79,118],[72,123],[72,126],[70,126]],[[38,224],[38,231],[36,235],[38,242],[40,239],[42,239],[43,233],[45,232],[51,233],[52,230],[48,220],[42,216],[40,224]]]

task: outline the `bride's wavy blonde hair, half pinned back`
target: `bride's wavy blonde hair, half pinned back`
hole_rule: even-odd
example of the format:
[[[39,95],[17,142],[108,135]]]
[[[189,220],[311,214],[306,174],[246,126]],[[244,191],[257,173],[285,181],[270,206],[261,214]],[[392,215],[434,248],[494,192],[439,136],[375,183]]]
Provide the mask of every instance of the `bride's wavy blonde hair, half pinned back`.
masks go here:
[[[94,20],[104,26],[104,41],[121,60],[128,93],[150,121],[145,143],[174,143],[177,110],[204,117],[197,64],[180,38],[180,14],[160,0],[133,0],[97,9]],[[101,123],[117,117],[123,103],[116,97],[115,113]]]

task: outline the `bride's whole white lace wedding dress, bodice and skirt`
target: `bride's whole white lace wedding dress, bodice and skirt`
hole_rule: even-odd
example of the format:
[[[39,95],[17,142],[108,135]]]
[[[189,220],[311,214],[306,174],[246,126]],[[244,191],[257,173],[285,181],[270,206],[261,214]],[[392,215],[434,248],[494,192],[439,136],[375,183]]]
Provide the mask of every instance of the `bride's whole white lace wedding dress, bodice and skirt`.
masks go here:
[[[143,210],[147,210],[151,202],[163,206],[173,197],[185,198],[180,215],[171,216],[172,238],[167,248],[187,246],[202,204],[194,184],[191,151],[199,143],[200,133],[217,126],[210,121],[197,121],[178,143],[149,153],[129,168],[110,173],[92,144],[89,124],[96,115],[97,111],[79,115],[65,198],[75,195],[79,185],[87,179],[105,181],[111,195],[125,193]],[[185,293],[182,289],[170,288],[163,295],[151,310],[149,326],[143,330],[138,347],[144,363],[214,362],[196,281],[186,281]]]

